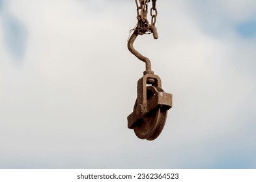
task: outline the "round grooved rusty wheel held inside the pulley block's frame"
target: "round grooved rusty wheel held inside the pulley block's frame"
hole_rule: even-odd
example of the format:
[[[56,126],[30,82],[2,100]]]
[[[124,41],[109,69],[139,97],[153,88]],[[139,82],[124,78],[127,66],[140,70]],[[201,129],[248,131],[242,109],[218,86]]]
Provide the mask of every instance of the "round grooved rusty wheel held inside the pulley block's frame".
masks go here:
[[[152,98],[154,94],[164,92],[157,86],[147,86],[147,99]],[[135,101],[134,110],[137,108],[137,100]],[[151,110],[144,118],[140,118],[134,125],[134,133],[138,138],[154,140],[162,132],[167,117],[167,110],[160,106]]]

